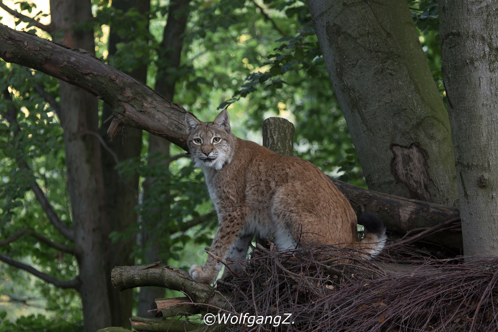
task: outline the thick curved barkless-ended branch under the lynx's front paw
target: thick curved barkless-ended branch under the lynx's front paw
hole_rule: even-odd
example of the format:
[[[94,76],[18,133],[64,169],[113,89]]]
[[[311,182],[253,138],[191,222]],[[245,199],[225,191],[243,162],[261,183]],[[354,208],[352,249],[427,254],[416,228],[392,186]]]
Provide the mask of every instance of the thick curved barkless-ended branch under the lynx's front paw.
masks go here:
[[[186,294],[194,303],[226,305],[226,299],[208,284],[197,283],[187,272],[158,263],[141,266],[116,266],[111,272],[114,288],[123,291],[134,287],[165,287]]]

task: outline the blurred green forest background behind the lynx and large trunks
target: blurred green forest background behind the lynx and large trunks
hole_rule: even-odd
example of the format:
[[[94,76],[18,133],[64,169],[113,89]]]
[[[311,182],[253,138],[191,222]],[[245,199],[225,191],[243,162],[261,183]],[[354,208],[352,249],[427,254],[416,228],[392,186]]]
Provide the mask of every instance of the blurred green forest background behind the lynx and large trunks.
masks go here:
[[[212,120],[229,105],[232,129],[241,138],[261,144],[261,121],[269,116],[287,118],[296,127],[294,155],[311,161],[331,176],[366,188],[306,4],[294,0],[184,2],[184,11],[175,14],[169,1],[151,0],[150,7],[144,9],[133,7],[131,0],[93,0],[93,20],[74,23],[73,29],[93,31],[99,59],[131,75],[141,74],[148,86],[201,120]],[[48,0],[5,0],[3,4],[39,18],[41,23],[51,22]],[[421,47],[445,101],[437,3],[409,5]],[[27,19],[14,19],[4,11],[0,15],[2,24],[53,38]],[[171,59],[164,61],[165,54],[173,48],[163,42],[166,22],[172,15],[178,16],[174,17],[176,21],[186,16],[178,64]],[[18,110],[19,127],[12,135],[2,114],[0,240],[16,230],[29,228],[64,242],[30,187],[34,177],[60,220],[71,223],[64,141],[56,110],[59,83],[47,75],[3,61],[0,80],[0,109]],[[173,89],[165,91],[168,85]],[[161,260],[162,265],[184,270],[192,264],[202,264],[204,247],[210,245],[216,230],[202,172],[193,168],[179,147],[157,143],[146,131],[124,131],[109,142],[107,112],[99,101],[103,159],[107,153],[114,172],[110,177],[114,176],[118,187],[134,198],[129,203],[129,218],[133,222],[109,232],[109,240],[115,246],[127,248],[126,257],[134,264]],[[137,152],[126,156],[131,150],[127,148],[131,139],[135,139]],[[118,163],[114,163],[115,157]],[[22,162],[29,165],[31,172],[19,167]],[[108,214],[113,213],[116,211],[109,208]],[[26,236],[2,246],[0,253],[59,279],[78,275],[73,255],[36,237]],[[5,263],[0,263],[0,275],[0,331],[82,331],[77,291],[55,287]],[[134,315],[143,312],[142,291],[133,291]],[[176,296],[166,294],[173,295]]]

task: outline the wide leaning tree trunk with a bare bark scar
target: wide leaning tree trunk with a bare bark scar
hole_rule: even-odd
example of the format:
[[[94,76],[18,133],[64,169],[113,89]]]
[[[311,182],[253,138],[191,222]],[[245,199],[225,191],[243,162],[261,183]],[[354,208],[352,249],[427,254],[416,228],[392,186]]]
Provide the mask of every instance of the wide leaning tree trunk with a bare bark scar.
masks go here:
[[[406,1],[308,7],[369,188],[454,205],[448,114]]]

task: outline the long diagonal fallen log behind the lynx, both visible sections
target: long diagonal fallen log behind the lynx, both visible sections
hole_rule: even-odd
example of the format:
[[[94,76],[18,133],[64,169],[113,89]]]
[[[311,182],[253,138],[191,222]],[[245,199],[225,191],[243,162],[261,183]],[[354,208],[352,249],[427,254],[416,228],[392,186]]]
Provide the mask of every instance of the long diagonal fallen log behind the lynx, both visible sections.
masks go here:
[[[130,76],[106,65],[83,50],[72,50],[35,35],[12,30],[0,24],[0,57],[82,88],[103,99],[113,108],[110,126],[113,136],[123,126],[132,126],[166,138],[187,149],[185,110],[152,91]],[[388,230],[405,231],[432,227],[459,217],[454,207],[382,194],[331,179],[360,214],[371,211],[384,221]],[[462,248],[461,232],[442,232],[429,241],[451,248]]]

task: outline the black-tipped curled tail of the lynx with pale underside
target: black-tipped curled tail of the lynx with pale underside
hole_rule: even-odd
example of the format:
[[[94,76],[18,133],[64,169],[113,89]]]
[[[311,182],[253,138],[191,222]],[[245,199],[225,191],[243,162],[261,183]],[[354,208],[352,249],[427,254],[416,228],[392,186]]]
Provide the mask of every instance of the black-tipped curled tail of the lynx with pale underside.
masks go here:
[[[365,237],[358,243],[357,248],[365,252],[365,259],[370,259],[384,248],[387,239],[385,226],[382,220],[371,212],[364,212],[358,223],[363,225]]]

